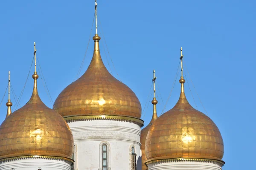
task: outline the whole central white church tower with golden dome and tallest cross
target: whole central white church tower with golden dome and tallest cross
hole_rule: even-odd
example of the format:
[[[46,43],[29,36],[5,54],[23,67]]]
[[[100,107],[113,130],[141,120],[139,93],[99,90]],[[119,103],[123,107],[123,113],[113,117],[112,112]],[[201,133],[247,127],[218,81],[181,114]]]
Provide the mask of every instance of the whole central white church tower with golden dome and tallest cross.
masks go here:
[[[96,2],[95,15],[90,65],[58,95],[53,107],[72,130],[75,170],[140,170],[140,101],[102,62]]]

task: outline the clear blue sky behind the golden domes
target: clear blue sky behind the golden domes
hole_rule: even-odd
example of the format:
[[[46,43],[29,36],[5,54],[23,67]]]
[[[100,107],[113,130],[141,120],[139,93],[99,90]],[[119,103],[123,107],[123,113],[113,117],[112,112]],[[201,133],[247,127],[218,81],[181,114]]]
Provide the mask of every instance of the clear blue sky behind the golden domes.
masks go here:
[[[195,89],[224,139],[223,170],[255,168],[255,7],[253,0],[98,0],[99,28],[104,32],[116,71],[122,82],[137,94],[142,108],[151,101],[147,96],[152,92],[155,69],[159,87],[157,111],[161,114],[183,47],[184,62]],[[20,94],[36,41],[37,56],[54,101],[79,71],[93,14],[94,0],[1,1],[0,99],[8,83],[9,70],[15,93]],[[102,59],[110,70],[102,31],[100,36]],[[105,51],[108,54],[106,47]],[[89,65],[92,53],[90,39],[81,73]],[[109,56],[108,60],[113,75],[118,78]],[[32,71],[21,106],[32,93]],[[195,98],[194,102],[186,83],[189,102],[206,113],[186,68],[184,73]],[[52,108],[41,79],[38,82],[41,99]],[[175,105],[179,92],[177,81],[165,111]],[[7,96],[0,108],[0,122],[6,116],[6,101]],[[12,102],[15,105],[13,96]],[[146,108],[142,116],[145,125],[151,119],[151,103]]]

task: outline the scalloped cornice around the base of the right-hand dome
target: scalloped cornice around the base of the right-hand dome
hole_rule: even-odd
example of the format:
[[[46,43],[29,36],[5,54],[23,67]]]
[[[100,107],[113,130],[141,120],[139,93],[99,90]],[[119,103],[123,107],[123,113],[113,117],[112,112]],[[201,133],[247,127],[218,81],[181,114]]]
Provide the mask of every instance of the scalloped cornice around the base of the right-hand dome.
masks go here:
[[[145,162],[145,165],[148,164],[161,164],[161,163],[167,163],[167,162],[183,162],[183,161],[189,161],[189,162],[204,162],[204,163],[212,163],[217,164],[218,166],[222,167],[225,162],[219,161],[215,159],[197,159],[197,158],[172,158],[172,159],[155,159],[155,160],[149,160]]]

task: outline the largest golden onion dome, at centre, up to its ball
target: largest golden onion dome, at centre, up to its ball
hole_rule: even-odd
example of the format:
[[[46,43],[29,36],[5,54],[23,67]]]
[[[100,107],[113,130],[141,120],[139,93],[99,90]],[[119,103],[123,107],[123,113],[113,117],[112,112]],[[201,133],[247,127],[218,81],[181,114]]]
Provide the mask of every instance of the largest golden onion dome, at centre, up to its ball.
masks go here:
[[[108,72],[100,56],[98,34],[93,40],[93,58],[87,71],[58,95],[53,107],[64,117],[113,115],[140,119],[139,99]]]

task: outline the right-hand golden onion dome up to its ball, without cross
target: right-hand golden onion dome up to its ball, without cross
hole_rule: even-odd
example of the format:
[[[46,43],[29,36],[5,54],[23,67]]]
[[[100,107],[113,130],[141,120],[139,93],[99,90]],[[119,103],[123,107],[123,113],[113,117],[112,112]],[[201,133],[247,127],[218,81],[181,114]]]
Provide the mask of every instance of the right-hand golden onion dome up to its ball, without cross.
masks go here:
[[[148,161],[172,158],[215,159],[222,161],[224,144],[215,123],[194,109],[184,93],[181,77],[180,99],[150,127],[145,142]]]

